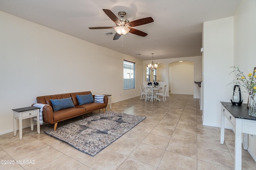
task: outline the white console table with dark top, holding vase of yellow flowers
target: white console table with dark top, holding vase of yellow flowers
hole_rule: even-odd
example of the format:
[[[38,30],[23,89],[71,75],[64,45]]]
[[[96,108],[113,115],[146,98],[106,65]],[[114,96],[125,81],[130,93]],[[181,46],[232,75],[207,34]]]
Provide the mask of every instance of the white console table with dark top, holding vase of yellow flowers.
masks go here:
[[[248,134],[256,135],[256,117],[249,116],[247,104],[241,106],[228,102],[220,102],[221,128],[220,144],[224,143],[225,117],[235,131],[235,170],[242,168],[242,133],[244,133],[243,147],[248,149]]]

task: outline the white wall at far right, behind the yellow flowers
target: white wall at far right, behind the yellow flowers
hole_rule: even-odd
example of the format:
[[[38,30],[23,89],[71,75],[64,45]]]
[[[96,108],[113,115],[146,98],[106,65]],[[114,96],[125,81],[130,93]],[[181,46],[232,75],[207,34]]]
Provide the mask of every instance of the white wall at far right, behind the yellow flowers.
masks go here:
[[[256,67],[256,1],[243,0],[234,15],[234,65],[245,74]],[[244,103],[248,94],[242,93]],[[248,151],[256,160],[256,135],[249,135]]]

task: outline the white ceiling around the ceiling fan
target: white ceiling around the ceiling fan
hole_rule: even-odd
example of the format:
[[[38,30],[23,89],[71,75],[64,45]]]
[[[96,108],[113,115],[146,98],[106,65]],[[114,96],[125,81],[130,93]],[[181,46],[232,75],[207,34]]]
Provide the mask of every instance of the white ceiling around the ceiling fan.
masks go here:
[[[0,11],[113,49],[141,60],[202,55],[203,22],[234,16],[241,0],[0,0]],[[134,27],[148,33],[127,33],[119,40],[104,33],[116,26],[102,9],[127,12],[130,21],[152,17],[154,22]],[[119,16],[118,16],[119,18]],[[136,55],[140,54],[140,55]]]

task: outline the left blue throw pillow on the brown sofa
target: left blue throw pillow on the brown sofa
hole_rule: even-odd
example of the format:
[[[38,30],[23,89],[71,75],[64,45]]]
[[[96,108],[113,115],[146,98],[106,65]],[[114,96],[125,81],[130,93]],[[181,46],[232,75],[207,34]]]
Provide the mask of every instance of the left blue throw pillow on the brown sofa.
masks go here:
[[[62,109],[70,108],[70,107],[75,107],[71,97],[64,98],[64,99],[55,99],[55,100],[50,99],[50,101],[52,102],[53,111],[58,111],[58,110],[62,110]]]

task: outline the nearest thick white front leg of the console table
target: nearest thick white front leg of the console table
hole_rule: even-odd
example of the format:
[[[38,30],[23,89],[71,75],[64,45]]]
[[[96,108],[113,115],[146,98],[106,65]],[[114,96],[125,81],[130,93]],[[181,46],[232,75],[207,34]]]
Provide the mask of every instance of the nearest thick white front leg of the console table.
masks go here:
[[[242,119],[236,119],[235,170],[242,168]]]

